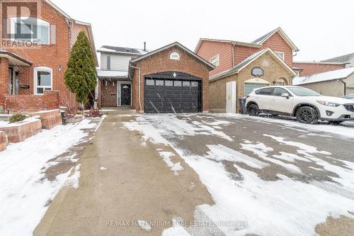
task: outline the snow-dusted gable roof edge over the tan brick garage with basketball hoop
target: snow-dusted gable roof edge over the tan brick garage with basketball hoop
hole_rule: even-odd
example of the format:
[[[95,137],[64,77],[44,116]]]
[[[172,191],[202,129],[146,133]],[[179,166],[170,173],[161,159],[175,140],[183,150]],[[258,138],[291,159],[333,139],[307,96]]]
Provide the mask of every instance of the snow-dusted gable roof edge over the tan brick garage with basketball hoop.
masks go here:
[[[249,64],[251,64],[251,62],[254,62],[258,57],[261,57],[261,55],[264,55],[265,52],[270,52],[273,55],[273,57],[275,58],[275,60],[278,60],[278,62],[280,62],[280,64],[282,64],[282,66],[285,67],[291,74],[296,75],[296,73],[294,72],[294,70],[292,68],[290,68],[283,60],[281,60],[280,57],[278,57],[278,55],[276,55],[275,52],[273,52],[273,50],[270,49],[270,47],[267,47],[261,51],[253,53],[252,55],[247,57],[245,60],[240,62],[239,64],[236,64],[236,66],[233,67],[232,69],[229,69],[227,71],[216,74],[213,77],[210,77],[210,80],[222,79],[223,77],[229,76],[231,74],[239,73],[242,69],[244,69]]]

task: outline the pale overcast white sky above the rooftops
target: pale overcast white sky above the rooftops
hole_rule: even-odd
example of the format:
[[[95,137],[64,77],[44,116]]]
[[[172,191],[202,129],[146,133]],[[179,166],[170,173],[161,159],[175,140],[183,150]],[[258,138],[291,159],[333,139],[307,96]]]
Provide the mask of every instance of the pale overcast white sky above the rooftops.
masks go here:
[[[195,49],[199,38],[251,42],[279,26],[297,45],[295,61],[354,52],[353,0],[52,0],[93,26],[96,47],[156,49],[178,41]]]

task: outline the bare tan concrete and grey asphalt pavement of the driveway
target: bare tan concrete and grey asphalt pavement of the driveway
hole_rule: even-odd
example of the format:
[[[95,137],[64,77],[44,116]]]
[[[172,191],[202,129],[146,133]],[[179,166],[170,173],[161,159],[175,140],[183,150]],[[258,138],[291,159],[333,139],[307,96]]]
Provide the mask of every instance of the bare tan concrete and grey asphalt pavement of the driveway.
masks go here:
[[[340,128],[354,130],[354,125]],[[354,141],[348,135],[326,130],[310,130],[306,125],[281,120],[216,114],[108,116],[80,157],[79,189],[63,189],[58,194],[35,235],[161,235],[169,225],[147,232],[138,226],[116,224],[121,220],[166,222],[173,217],[187,222],[210,220],[197,206],[215,204],[215,196],[210,195],[215,193],[213,186],[206,189],[203,184],[207,180],[200,181],[202,172],[193,170],[180,155],[210,158],[211,147],[234,150],[257,159],[256,163],[267,164],[255,168],[246,162],[236,166],[227,158],[213,159],[215,164],[222,164],[232,181],[243,181],[246,170],[264,183],[287,176],[327,189],[329,186],[321,183],[338,184],[333,179],[341,176],[321,163],[348,169],[348,162],[354,162]],[[220,148],[215,152],[221,153]],[[353,189],[334,187],[330,191],[354,200]],[[190,235],[225,232],[217,227],[205,232],[191,227],[185,230]],[[327,218],[325,224],[316,226],[316,232],[354,235],[354,221],[344,216],[340,220]]]

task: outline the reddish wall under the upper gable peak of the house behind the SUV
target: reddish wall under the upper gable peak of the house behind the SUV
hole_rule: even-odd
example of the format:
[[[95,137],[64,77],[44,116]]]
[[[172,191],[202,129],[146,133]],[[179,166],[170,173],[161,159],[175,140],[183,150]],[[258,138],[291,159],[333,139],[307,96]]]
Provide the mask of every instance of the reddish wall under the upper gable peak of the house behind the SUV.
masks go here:
[[[280,37],[278,33],[273,34],[265,40],[263,43],[263,48],[270,47],[275,52],[284,52],[285,53],[285,62],[288,66],[292,67],[292,50],[287,43]]]

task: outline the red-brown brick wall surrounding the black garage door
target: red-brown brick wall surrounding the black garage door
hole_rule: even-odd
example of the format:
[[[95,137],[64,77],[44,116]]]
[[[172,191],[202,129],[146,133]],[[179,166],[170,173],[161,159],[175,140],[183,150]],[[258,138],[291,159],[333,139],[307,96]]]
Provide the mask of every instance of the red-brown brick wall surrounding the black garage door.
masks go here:
[[[181,60],[170,60],[171,52],[178,52]],[[142,109],[144,109],[144,76],[161,72],[182,72],[202,79],[202,110],[208,110],[209,104],[209,70],[205,64],[197,60],[189,53],[179,47],[171,47],[168,50],[156,53],[137,62],[137,67],[141,68],[140,92]],[[138,70],[132,79],[132,107],[139,112],[138,101]]]

